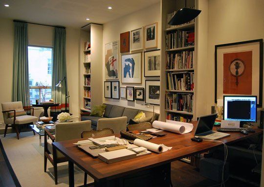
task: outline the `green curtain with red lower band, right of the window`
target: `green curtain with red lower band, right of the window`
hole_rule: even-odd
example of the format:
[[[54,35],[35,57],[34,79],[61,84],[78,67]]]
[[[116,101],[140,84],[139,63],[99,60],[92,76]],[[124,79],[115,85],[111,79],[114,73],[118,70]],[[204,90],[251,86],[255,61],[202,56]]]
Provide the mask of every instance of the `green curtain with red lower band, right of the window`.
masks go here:
[[[60,105],[51,108],[53,114],[54,112],[68,112],[66,77],[66,29],[55,27],[51,96],[54,102]],[[63,80],[62,87],[56,87],[60,80]]]

